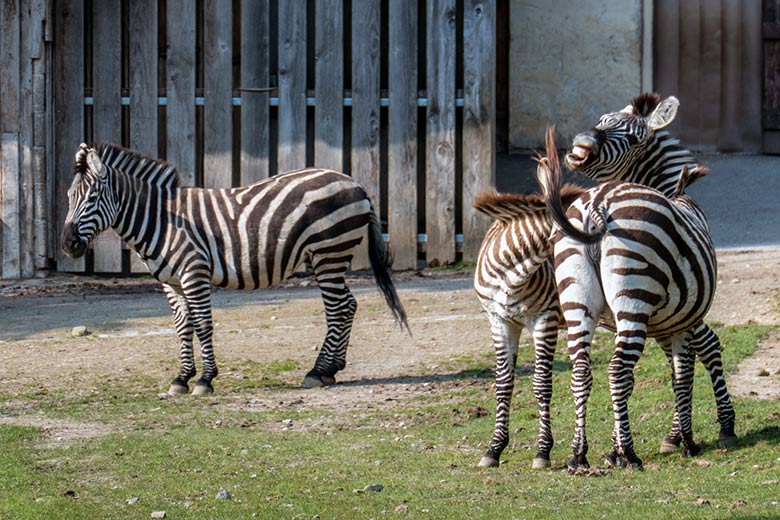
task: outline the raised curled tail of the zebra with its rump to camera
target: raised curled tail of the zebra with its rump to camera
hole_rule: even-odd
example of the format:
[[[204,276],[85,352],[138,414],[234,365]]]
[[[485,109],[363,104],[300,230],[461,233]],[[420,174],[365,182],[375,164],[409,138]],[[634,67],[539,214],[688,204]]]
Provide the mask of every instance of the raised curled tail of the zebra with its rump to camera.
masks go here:
[[[539,164],[536,168],[536,178],[539,186],[542,188],[542,197],[547,205],[547,211],[553,221],[561,228],[563,233],[575,240],[586,244],[592,244],[601,240],[605,227],[603,219],[595,219],[597,224],[601,224],[594,231],[588,232],[577,229],[566,216],[566,207],[564,207],[564,197],[562,194],[563,173],[561,164],[558,160],[558,150],[555,148],[555,127],[547,128],[545,139],[546,156],[537,155],[536,162]]]

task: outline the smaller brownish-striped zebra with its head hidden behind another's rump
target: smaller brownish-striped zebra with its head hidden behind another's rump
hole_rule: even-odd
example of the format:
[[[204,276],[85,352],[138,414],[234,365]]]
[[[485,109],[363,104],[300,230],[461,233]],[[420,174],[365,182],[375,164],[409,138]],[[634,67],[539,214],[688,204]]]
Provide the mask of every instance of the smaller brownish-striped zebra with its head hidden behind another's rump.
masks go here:
[[[573,201],[583,191],[567,184],[564,203]],[[546,468],[553,447],[553,359],[562,323],[549,240],[553,221],[538,194],[484,192],[477,195],[474,207],[495,219],[482,241],[474,271],[474,290],[488,314],[496,352],[496,423],[490,447],[479,465],[497,467],[509,443],[518,339],[526,328],[534,341],[533,393],[539,408],[538,449],[533,467]]]

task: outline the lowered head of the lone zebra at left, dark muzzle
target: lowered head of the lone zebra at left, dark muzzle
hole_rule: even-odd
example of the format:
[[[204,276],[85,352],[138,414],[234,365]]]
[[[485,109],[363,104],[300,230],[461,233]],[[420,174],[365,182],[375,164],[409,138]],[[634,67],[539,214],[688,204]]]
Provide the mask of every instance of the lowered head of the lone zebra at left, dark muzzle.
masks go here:
[[[109,186],[108,167],[94,148],[79,145],[73,173],[60,243],[66,255],[78,258],[87,252],[92,239],[113,222],[117,206]]]

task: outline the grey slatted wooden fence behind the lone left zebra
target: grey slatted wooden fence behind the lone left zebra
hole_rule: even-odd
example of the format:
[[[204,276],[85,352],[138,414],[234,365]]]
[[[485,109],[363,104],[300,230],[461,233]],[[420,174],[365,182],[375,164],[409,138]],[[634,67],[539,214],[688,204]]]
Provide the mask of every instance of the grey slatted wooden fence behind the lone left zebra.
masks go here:
[[[49,3],[57,232],[45,245],[58,270],[144,271],[111,231],[85,258],[60,252],[82,141],[167,158],[207,188],[342,170],[374,200],[395,268],[476,258],[488,223],[471,201],[495,176],[495,0]]]

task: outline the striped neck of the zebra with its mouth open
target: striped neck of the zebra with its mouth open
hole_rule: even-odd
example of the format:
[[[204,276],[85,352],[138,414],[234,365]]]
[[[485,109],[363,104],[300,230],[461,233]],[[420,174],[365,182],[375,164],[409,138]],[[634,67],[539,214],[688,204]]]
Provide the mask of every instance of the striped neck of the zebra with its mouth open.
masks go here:
[[[691,152],[680,146],[680,141],[668,132],[658,132],[639,159],[633,175],[626,180],[655,188],[667,197],[673,197],[686,164],[695,163]]]

